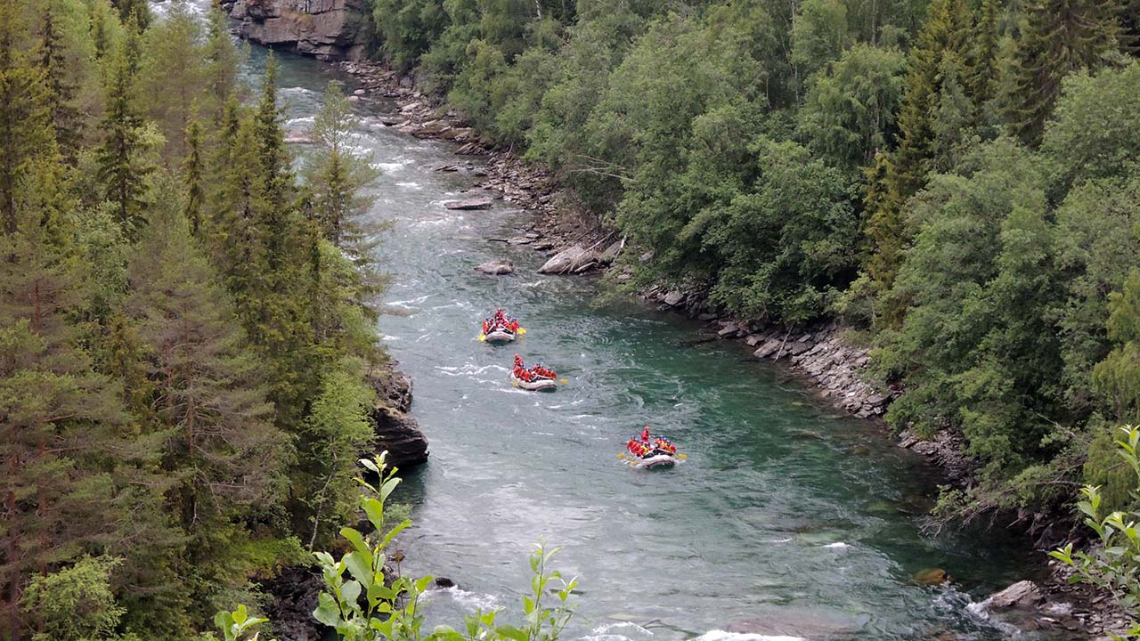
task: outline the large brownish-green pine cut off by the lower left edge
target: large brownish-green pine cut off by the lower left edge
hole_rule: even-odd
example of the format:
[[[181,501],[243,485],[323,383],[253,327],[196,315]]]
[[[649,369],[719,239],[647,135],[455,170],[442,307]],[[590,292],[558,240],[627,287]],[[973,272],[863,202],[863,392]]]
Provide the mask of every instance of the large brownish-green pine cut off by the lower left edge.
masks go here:
[[[119,490],[92,463],[133,455],[120,438],[124,414],[114,384],[75,347],[72,262],[30,218],[0,236],[0,617],[11,639],[34,624],[18,616],[30,573],[120,537]]]

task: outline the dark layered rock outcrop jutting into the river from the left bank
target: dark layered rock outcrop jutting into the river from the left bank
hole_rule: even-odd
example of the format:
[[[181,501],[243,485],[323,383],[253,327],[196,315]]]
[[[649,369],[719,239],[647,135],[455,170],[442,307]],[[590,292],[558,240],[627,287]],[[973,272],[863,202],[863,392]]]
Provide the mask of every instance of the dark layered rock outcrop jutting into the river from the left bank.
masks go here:
[[[388,462],[408,470],[427,462],[427,438],[408,415],[412,409],[412,379],[397,370],[369,374],[376,390],[372,420],[376,429],[376,449],[388,451]]]

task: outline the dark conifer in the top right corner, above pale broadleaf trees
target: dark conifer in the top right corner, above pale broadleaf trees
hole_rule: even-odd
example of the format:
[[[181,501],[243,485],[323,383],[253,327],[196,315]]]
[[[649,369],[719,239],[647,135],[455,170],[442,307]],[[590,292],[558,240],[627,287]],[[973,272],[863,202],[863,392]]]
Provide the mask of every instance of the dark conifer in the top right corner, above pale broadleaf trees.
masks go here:
[[[1041,143],[1066,74],[1096,71],[1119,48],[1117,0],[1031,0],[1017,43],[1017,67],[1005,116],[1027,145]]]

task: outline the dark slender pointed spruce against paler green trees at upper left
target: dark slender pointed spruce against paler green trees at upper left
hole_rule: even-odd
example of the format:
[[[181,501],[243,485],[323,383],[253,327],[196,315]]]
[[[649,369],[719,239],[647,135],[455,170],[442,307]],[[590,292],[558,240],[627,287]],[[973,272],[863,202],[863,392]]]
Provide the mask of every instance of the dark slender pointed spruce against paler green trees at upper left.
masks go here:
[[[135,76],[129,56],[123,52],[114,56],[101,123],[105,137],[98,149],[98,177],[106,198],[115,206],[119,222],[130,236],[142,222],[147,178],[153,167],[145,157],[144,124],[135,106]]]

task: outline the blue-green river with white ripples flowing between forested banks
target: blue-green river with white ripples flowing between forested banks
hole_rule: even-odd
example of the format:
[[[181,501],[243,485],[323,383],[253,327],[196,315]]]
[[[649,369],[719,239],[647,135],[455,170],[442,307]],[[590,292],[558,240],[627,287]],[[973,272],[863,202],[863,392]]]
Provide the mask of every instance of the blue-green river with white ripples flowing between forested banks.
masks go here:
[[[263,60],[254,48],[251,79]],[[304,129],[341,76],[279,60],[286,127]],[[1009,635],[968,606],[1040,575],[1040,552],[1000,532],[923,534],[937,474],[881,428],[822,405],[736,342],[694,341],[695,323],[633,299],[600,305],[592,278],[538,275],[543,257],[487,240],[518,235],[530,214],[502,201],[443,209],[478,180],[431,169],[455,162],[454,146],[384,128],[376,116],[390,103],[356,107],[360,153],[383,171],[372,214],[394,224],[377,250],[393,277],[380,330],[415,380],[413,414],[431,443],[396,495],[414,508],[405,569],[458,585],[432,593],[432,623],[459,625],[475,607],[518,618],[527,554],[545,541],[564,546],[556,566],[580,579],[571,638],[673,641],[741,622],[812,641]],[[473,270],[497,258],[516,275]],[[528,328],[518,344],[475,340],[496,306]],[[512,387],[514,351],[569,383]],[[668,472],[621,464],[646,423],[689,460]],[[953,582],[915,583],[928,568]]]

